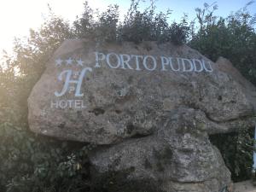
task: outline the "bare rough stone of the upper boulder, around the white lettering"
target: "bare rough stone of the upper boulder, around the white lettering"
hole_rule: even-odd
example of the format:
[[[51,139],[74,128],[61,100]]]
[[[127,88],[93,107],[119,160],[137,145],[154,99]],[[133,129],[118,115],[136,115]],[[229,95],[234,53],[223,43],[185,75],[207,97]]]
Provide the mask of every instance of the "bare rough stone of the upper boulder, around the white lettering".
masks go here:
[[[110,68],[106,61],[95,67],[96,51],[105,55],[153,55],[158,65],[156,70],[148,71],[138,58],[141,70],[134,70],[133,58],[130,62],[133,70],[127,66],[126,69]],[[173,72],[168,66],[162,71],[160,56],[204,60],[211,63],[213,71]],[[74,60],[71,64],[67,64],[69,58]],[[58,59],[62,60],[61,65],[56,64]],[[77,62],[80,59],[83,66]],[[148,63],[150,65],[150,59]],[[58,79],[61,72],[70,69],[70,79],[78,79],[85,67],[91,67],[92,72],[84,75],[80,91],[84,96],[74,96],[72,89],[76,84],[73,83],[68,84],[63,96],[55,96],[55,91],[60,92],[65,84],[65,73]],[[28,99],[30,128],[60,139],[110,144],[152,134],[159,129],[158,119],[164,113],[184,106],[200,111],[207,132],[229,131],[234,128],[230,126],[232,120],[253,114],[252,101],[256,96],[254,87],[241,75],[238,78],[237,73],[229,62],[213,63],[185,45],[177,47],[154,42],[99,45],[85,40],[67,40],[47,63],[46,71]],[[253,89],[246,92],[247,87]],[[75,100],[77,107],[83,105],[84,108],[74,108]],[[61,107],[65,107],[65,101],[66,104],[71,101],[71,108],[51,108],[51,102],[60,101],[64,101]]]

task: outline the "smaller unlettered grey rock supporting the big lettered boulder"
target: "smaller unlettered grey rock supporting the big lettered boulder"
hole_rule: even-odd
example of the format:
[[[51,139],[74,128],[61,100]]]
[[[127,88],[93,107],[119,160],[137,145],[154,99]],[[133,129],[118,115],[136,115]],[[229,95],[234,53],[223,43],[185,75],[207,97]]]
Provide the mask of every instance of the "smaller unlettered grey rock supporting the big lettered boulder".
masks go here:
[[[201,129],[197,115],[198,110],[178,108],[176,113],[166,113],[153,136],[133,138],[91,153],[94,180],[107,174],[103,183],[117,186],[108,190],[107,185],[107,190],[99,191],[124,191],[123,186],[130,186],[127,182],[135,181],[149,181],[152,191],[166,192],[218,192],[229,187],[230,172],[210,143],[206,129]],[[120,172],[125,177],[116,177]]]

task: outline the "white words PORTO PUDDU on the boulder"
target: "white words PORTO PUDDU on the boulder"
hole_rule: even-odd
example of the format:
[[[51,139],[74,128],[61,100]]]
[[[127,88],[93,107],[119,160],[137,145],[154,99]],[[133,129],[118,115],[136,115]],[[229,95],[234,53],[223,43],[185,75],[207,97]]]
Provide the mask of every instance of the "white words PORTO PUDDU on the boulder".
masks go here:
[[[126,55],[101,52],[95,52],[96,65],[102,67],[107,65],[110,68],[129,69],[136,71],[155,71],[161,72],[207,72],[212,73],[213,69],[210,61],[199,59],[185,59],[170,56],[153,56],[153,55]]]

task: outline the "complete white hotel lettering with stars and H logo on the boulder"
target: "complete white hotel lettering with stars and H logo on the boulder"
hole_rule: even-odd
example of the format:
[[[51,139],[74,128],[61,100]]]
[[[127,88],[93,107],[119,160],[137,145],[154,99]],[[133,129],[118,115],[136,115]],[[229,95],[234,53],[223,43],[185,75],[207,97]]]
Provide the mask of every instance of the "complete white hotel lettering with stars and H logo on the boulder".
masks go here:
[[[210,61],[199,59],[185,59],[170,56],[153,56],[153,55],[126,55],[102,52],[95,52],[95,65],[88,67],[88,63],[84,63],[82,59],[74,60],[69,57],[67,60],[60,58],[55,61],[56,67],[79,67],[75,70],[68,68],[63,69],[58,74],[57,79],[62,84],[61,90],[55,90],[56,100],[50,102],[50,108],[86,108],[84,100],[73,99],[84,96],[82,92],[82,84],[88,73],[93,73],[93,68],[109,67],[112,69],[125,69],[135,71],[160,71],[160,72],[178,72],[178,73],[212,73],[213,69]],[[104,66],[105,65],[105,66]],[[61,99],[61,96],[70,96],[73,98]]]

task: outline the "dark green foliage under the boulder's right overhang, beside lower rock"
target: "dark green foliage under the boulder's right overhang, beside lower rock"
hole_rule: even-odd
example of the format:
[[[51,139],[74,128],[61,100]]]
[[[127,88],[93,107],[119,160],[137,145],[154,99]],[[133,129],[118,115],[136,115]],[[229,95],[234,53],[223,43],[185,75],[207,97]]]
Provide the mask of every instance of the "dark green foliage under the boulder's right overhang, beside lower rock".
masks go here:
[[[252,174],[254,129],[245,127],[238,132],[210,136],[218,147],[234,182],[247,180]]]

